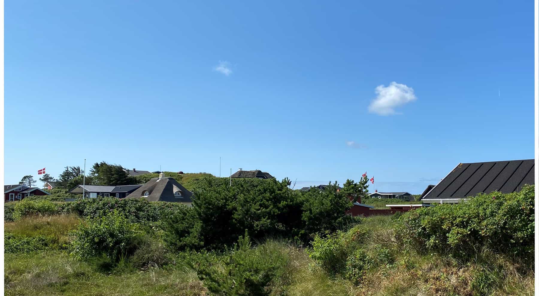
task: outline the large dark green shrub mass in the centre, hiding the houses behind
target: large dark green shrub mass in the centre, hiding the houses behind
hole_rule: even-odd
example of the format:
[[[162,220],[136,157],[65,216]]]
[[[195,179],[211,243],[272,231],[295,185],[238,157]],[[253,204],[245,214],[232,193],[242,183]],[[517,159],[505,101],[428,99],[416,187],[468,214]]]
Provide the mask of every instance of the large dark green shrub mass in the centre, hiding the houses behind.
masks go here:
[[[214,178],[201,188],[192,212],[176,213],[166,222],[167,241],[179,249],[222,249],[245,230],[257,241],[271,236],[308,242],[316,232],[354,221],[345,215],[350,201],[335,185],[300,194],[288,188],[286,179],[238,180],[230,186]]]

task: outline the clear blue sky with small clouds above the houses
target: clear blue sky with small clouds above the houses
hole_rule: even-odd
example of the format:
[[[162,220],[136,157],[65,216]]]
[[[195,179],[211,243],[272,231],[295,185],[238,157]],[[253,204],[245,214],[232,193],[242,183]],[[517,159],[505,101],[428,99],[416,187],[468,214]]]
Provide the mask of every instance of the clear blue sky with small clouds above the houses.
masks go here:
[[[6,184],[98,161],[375,176],[534,157],[533,2],[9,1]],[[395,83],[392,83],[395,82]]]

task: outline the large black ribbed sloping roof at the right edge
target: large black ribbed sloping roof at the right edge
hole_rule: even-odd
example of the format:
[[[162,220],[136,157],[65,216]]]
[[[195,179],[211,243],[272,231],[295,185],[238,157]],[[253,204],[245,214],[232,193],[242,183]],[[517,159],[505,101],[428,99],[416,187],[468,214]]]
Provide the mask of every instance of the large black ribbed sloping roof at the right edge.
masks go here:
[[[423,199],[462,199],[479,193],[519,192],[534,184],[534,159],[459,164]]]

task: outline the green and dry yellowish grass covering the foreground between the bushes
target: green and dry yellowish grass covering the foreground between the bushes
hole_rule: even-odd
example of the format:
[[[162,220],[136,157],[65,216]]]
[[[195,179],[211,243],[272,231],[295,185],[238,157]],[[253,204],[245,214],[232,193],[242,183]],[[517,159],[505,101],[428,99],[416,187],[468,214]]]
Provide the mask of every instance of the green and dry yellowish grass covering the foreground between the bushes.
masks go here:
[[[75,216],[27,217],[4,223],[13,237],[53,236],[68,244],[69,233],[79,220]],[[281,276],[272,282],[272,295],[533,295],[533,271],[495,255],[489,250],[474,262],[459,262],[436,253],[419,255],[406,251],[395,240],[391,216],[373,216],[346,235],[350,248],[368,256],[389,250],[383,264],[365,269],[358,281],[331,276],[301,246],[268,240],[265,249],[286,255]],[[187,253],[170,252],[162,266],[136,269],[123,264],[100,272],[92,262],[80,262],[68,249],[51,248],[27,253],[6,252],[4,288],[6,295],[208,295]],[[260,248],[260,245],[258,246]],[[221,256],[221,255],[216,255]],[[374,256],[374,255],[373,255]]]

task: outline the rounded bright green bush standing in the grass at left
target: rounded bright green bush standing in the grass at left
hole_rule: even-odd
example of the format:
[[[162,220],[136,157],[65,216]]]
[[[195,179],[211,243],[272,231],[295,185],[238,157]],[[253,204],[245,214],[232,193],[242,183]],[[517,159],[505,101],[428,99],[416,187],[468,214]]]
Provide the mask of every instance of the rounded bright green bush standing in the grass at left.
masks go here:
[[[74,231],[73,253],[80,259],[106,255],[113,261],[132,255],[143,231],[118,211],[80,223]]]

